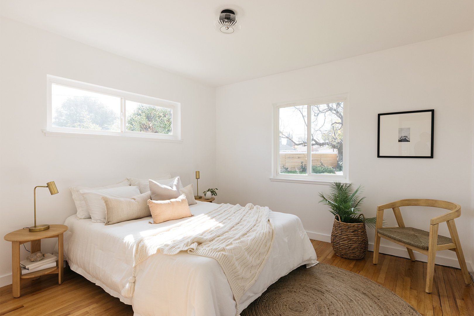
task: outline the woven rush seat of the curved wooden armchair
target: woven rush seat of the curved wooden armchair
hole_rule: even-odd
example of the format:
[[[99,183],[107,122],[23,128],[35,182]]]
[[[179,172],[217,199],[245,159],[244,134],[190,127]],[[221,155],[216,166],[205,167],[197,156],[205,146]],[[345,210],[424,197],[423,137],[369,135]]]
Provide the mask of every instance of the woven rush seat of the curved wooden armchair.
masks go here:
[[[404,244],[428,250],[429,232],[427,231],[413,227],[385,227],[378,228],[377,233]],[[438,245],[451,244],[452,242],[451,238],[438,235]]]

